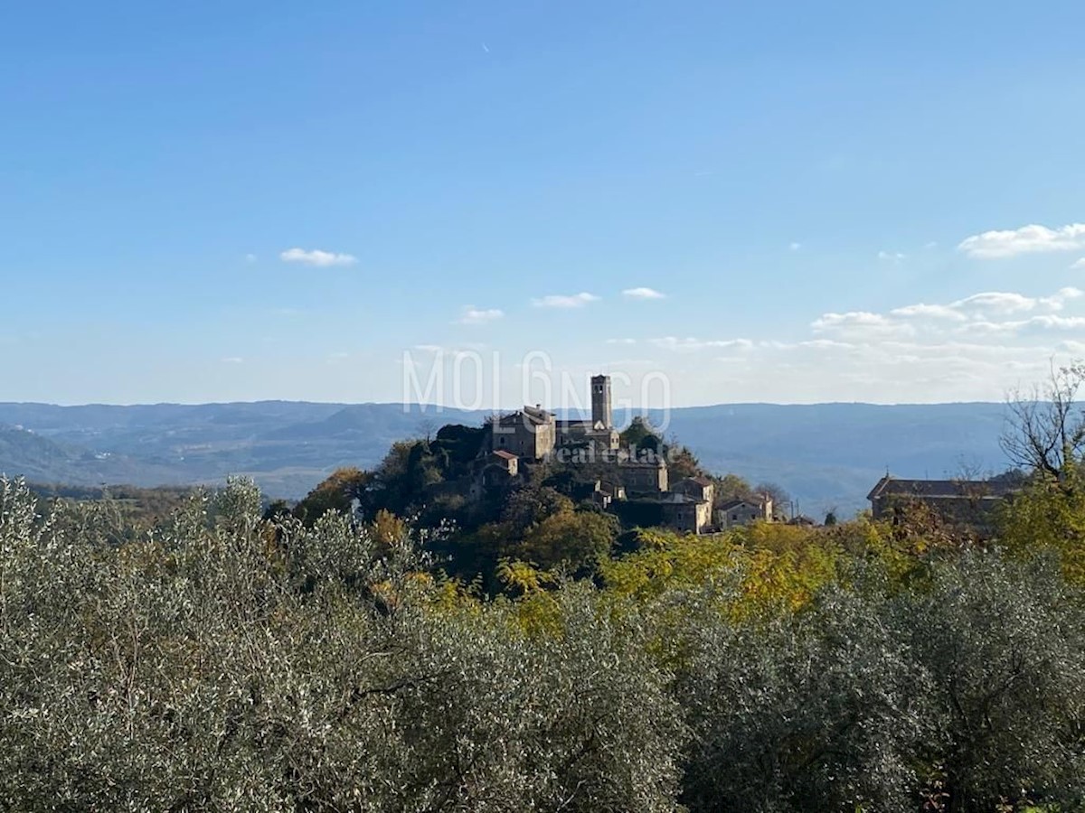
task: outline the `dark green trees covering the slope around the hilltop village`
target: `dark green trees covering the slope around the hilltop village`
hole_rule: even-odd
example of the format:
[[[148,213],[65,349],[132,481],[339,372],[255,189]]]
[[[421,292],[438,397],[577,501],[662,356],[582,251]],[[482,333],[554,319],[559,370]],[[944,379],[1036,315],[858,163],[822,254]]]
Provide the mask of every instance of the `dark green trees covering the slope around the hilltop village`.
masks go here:
[[[429,550],[449,576],[490,595],[502,590],[498,573],[509,560],[598,578],[600,564],[612,552],[639,547],[641,526],[662,518],[656,503],[636,500],[601,511],[590,499],[593,482],[613,478],[602,464],[522,463],[526,477],[514,489],[468,499],[462,483],[471,479],[484,442],[482,427],[443,426],[433,437],[394,443],[371,470],[337,469],[296,505],[276,501],[265,516],[290,513],[308,526],[328,511],[382,524],[409,517],[417,530],[429,532]],[[688,448],[664,441],[639,417],[622,433],[622,446],[666,455],[672,482],[711,478],[717,504],[754,493],[771,494],[777,505],[789,499],[773,483],[754,487],[735,475],[713,476]]]

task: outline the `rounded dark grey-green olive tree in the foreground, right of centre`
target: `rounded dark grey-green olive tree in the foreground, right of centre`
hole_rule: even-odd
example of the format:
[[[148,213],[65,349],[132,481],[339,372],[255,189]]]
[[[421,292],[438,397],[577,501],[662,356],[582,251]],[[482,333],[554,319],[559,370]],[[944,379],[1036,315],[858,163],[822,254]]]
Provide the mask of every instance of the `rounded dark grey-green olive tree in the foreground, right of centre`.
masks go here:
[[[756,625],[701,625],[678,697],[691,811],[905,811],[927,681],[873,605],[839,590]]]

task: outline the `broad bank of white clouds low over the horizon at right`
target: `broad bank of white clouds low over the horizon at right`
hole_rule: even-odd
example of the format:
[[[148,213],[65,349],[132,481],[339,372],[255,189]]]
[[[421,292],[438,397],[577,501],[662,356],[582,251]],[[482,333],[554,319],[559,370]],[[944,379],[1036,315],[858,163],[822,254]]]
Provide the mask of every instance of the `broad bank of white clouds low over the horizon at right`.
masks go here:
[[[676,402],[997,401],[1041,380],[1052,358],[1085,357],[1085,294],[1057,287],[841,308],[756,341],[690,330],[637,346],[661,353],[652,369],[666,371]]]

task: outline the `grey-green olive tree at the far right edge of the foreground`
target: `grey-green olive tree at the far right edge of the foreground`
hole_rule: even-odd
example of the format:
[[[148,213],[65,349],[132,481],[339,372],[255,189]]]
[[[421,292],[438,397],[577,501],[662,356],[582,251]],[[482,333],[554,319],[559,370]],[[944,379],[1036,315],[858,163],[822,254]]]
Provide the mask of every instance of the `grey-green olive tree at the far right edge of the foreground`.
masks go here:
[[[1082,597],[1056,563],[970,552],[907,597],[910,646],[933,683],[929,762],[948,811],[999,800],[1081,802]]]

